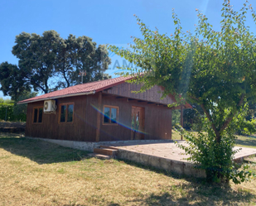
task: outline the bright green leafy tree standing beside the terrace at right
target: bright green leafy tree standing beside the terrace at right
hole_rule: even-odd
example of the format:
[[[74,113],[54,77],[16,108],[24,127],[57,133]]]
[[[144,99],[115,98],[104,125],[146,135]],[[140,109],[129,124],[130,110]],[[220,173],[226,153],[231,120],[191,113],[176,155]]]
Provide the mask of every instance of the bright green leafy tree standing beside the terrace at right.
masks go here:
[[[143,38],[133,37],[130,49],[109,46],[115,54],[138,66],[122,68],[128,72],[121,74],[136,76],[133,82],[143,84],[141,92],[157,84],[164,88],[163,97],[175,93],[178,103],[187,100],[200,105],[208,121],[205,138],[213,140],[213,144],[206,150],[210,155],[205,156],[205,152],[191,155],[206,170],[208,180],[232,179],[235,137],[231,127],[235,124],[231,122],[239,117],[247,101],[255,102],[256,98],[256,36],[246,25],[245,15],[249,10],[256,22],[248,2],[236,12],[225,1],[220,31],[213,30],[205,15],[197,11],[198,25],[193,34],[182,31],[181,22],[173,12],[176,27],[171,36],[150,30],[137,17]],[[189,147],[186,151],[194,149]],[[212,158],[214,164],[203,165],[204,158]]]

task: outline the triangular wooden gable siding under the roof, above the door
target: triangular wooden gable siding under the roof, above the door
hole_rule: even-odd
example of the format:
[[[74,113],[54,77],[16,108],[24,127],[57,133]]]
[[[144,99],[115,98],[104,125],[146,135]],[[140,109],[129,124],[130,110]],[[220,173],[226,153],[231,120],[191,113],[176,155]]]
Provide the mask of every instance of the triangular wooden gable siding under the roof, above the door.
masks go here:
[[[152,89],[148,89],[144,93],[132,93],[132,91],[139,91],[140,89],[141,84],[123,83],[108,89],[105,91],[105,93],[111,93],[122,97],[141,99],[153,103],[171,104],[175,102],[175,98],[171,95],[161,99],[162,89],[159,86],[154,86]]]

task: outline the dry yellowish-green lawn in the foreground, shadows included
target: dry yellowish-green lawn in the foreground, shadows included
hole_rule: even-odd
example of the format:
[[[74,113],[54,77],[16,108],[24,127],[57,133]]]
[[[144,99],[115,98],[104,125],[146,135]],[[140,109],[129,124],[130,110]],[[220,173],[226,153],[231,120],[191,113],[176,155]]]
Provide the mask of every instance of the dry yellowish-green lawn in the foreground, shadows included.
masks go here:
[[[250,140],[239,137],[239,145]],[[85,151],[7,133],[0,134],[0,185],[0,205],[256,203],[256,180],[206,184],[129,161],[89,158]]]

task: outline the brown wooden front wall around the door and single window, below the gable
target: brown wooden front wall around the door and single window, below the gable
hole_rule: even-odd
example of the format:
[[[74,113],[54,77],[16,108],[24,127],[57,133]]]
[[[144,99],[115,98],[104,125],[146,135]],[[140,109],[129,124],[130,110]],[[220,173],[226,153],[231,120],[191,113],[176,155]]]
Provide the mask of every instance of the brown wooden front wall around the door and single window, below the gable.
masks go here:
[[[103,125],[100,118],[99,141],[118,141],[131,139],[132,106],[145,108],[145,139],[171,139],[171,109],[128,98],[104,96],[103,105],[118,106],[119,125]]]

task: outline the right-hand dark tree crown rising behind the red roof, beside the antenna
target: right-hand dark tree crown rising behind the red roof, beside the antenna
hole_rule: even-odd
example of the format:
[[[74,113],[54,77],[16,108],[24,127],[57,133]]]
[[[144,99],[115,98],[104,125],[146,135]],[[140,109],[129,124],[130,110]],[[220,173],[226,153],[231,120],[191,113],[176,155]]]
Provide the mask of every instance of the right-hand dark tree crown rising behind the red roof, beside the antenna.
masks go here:
[[[109,74],[104,74],[111,64],[109,52],[105,46],[99,45],[88,36],[68,36],[60,41],[59,52],[56,59],[56,72],[63,76],[57,83],[58,88],[70,87],[80,84],[78,78],[80,71],[86,72],[83,83],[109,79]]]

